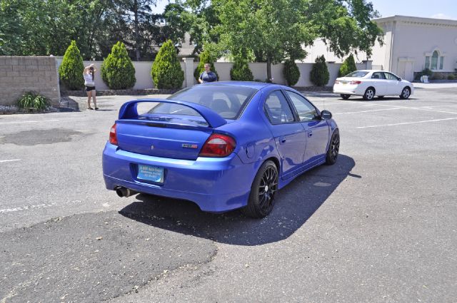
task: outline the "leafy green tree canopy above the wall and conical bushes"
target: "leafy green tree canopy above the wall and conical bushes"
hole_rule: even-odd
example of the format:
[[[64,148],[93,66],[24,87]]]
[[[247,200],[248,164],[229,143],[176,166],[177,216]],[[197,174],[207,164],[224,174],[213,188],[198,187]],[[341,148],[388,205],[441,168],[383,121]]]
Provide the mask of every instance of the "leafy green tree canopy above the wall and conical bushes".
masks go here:
[[[215,56],[271,64],[305,58],[321,37],[343,57],[371,54],[381,29],[367,0],[1,0],[0,55],[62,56],[76,41],[84,59],[106,58],[121,41],[130,58],[151,60],[164,41],[174,45],[189,33],[196,46]],[[204,47],[205,46],[205,47]]]

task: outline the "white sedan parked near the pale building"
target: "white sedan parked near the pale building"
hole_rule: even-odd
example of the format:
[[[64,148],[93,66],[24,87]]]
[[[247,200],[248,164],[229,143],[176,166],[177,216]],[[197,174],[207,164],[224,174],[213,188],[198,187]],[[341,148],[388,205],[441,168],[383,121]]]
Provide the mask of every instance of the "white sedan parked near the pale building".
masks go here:
[[[388,71],[353,71],[344,77],[336,78],[333,85],[333,93],[341,94],[341,98],[345,100],[351,95],[363,96],[364,100],[372,100],[375,96],[400,96],[407,99],[413,92],[411,82]]]

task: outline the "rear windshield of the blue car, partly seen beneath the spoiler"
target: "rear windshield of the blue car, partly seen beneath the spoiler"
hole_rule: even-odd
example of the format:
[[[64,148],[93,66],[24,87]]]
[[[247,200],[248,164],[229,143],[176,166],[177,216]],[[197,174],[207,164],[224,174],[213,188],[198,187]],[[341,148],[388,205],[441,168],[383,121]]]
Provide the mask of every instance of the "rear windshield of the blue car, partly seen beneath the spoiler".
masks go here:
[[[236,119],[256,91],[255,88],[243,86],[203,84],[185,88],[169,96],[167,99],[198,103],[211,108],[221,115],[222,118]],[[169,103],[160,103],[158,106],[152,108],[149,113],[199,115],[199,113],[191,110],[191,108],[187,108],[184,113],[183,106]]]

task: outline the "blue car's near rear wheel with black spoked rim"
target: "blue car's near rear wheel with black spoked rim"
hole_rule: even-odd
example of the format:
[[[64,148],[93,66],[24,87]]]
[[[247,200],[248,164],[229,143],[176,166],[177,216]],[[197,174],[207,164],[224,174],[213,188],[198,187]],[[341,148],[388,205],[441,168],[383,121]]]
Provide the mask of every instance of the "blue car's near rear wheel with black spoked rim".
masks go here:
[[[278,169],[271,160],[267,160],[258,169],[251,185],[248,205],[241,211],[248,217],[266,217],[274,206],[274,196],[278,191]]]

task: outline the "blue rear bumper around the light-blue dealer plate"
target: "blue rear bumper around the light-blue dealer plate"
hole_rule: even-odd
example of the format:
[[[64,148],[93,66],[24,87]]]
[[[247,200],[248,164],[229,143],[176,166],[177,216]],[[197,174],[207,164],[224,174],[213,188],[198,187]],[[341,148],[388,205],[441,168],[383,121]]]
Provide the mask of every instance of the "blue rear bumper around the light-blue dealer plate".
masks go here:
[[[164,183],[136,178],[139,164],[164,168]],[[256,163],[244,164],[235,153],[226,158],[179,160],[129,153],[110,143],[103,153],[107,189],[124,186],[150,195],[190,200],[207,212],[245,206],[256,168]]]

